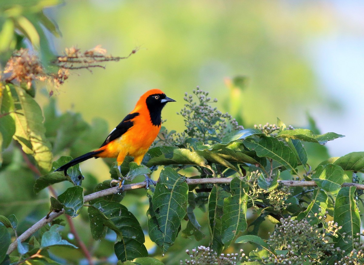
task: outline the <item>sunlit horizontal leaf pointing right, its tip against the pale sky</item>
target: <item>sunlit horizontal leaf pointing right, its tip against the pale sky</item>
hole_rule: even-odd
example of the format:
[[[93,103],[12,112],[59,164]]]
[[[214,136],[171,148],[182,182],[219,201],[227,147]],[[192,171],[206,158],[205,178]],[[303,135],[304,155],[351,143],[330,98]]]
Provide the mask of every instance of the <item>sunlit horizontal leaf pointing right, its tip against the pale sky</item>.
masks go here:
[[[308,129],[294,129],[294,130],[285,130],[279,132],[277,134],[277,137],[298,139],[305,142],[313,142],[313,143],[319,143],[320,145],[324,145],[328,141],[332,141],[339,137],[345,137],[345,135],[336,134],[335,132],[327,132],[325,134],[314,134],[313,131]]]

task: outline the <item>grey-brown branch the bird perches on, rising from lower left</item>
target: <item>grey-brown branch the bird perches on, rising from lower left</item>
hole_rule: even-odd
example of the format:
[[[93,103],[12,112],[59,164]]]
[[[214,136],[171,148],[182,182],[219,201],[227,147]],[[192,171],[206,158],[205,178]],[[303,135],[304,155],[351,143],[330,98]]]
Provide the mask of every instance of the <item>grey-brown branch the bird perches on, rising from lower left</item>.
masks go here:
[[[233,178],[200,178],[200,179],[190,179],[186,178],[187,185],[196,185],[196,184],[229,184],[232,181]],[[314,187],[317,186],[316,182],[314,181],[290,181],[290,180],[281,180],[278,181],[278,183],[281,183],[283,186],[289,186],[289,187]],[[145,188],[146,182],[138,182],[133,184],[127,184],[124,185],[124,191],[127,190],[134,190],[134,189],[141,189]],[[358,183],[343,183],[341,187],[348,187],[348,186],[355,186],[358,190],[364,190],[363,184]],[[95,193],[86,195],[84,197],[84,202],[91,201],[93,199],[105,197],[107,195],[116,194],[119,193],[118,187],[112,187],[106,190],[100,190]],[[29,238],[33,233],[35,233],[37,230],[39,230],[42,226],[50,223],[55,218],[59,217],[63,214],[63,210],[58,213],[51,213],[49,215],[49,218],[46,219],[46,217],[43,217],[40,221],[38,221],[36,224],[31,226],[27,231],[25,231],[23,234],[21,234],[18,239],[23,242],[27,238]],[[12,242],[12,244],[9,246],[7,254],[10,254],[13,252],[17,247],[17,241]]]

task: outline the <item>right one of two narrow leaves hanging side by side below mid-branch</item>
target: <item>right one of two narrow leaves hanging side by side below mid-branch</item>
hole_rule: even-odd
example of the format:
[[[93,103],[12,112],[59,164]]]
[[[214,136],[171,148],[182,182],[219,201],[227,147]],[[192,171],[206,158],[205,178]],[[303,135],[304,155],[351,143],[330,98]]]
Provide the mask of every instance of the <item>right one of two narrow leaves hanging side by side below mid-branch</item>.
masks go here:
[[[224,199],[222,222],[222,243],[228,247],[239,232],[247,228],[246,205],[249,185],[240,178],[233,178],[230,182],[232,197]]]

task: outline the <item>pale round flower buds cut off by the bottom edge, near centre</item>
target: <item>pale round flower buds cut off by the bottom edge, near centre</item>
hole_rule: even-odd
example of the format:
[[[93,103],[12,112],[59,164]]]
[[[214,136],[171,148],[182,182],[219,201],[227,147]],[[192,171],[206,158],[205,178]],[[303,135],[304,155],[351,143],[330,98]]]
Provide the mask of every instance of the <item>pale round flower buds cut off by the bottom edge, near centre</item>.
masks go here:
[[[193,249],[192,251],[187,249],[186,253],[190,255],[190,260],[185,260],[185,262],[181,260],[181,265],[236,265],[248,260],[242,249],[240,250],[240,253],[218,255],[213,249],[210,249],[209,247],[199,246],[197,249]]]

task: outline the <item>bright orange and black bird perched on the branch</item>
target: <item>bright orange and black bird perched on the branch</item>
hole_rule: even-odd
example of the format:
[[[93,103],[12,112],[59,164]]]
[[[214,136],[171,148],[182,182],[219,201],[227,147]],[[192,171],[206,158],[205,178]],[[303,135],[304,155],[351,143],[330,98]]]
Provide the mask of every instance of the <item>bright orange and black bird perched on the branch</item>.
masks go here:
[[[118,167],[123,163],[127,155],[134,157],[134,161],[140,165],[144,155],[153,143],[161,129],[161,112],[167,102],[175,101],[168,98],[159,89],[145,92],[138,100],[134,110],[114,128],[101,145],[101,147],[90,153],[81,155],[55,171],[64,171],[82,161],[92,157],[116,158]],[[146,176],[147,185],[150,179]]]

